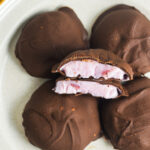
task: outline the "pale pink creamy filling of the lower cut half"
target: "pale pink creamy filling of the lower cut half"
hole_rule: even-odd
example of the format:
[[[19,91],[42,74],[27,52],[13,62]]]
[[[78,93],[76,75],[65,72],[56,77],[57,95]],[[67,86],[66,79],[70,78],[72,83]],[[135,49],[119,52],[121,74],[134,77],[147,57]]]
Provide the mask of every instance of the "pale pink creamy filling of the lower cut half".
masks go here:
[[[120,89],[113,85],[79,80],[57,81],[54,91],[58,94],[91,94],[94,97],[102,97],[105,99],[116,98],[121,94]]]

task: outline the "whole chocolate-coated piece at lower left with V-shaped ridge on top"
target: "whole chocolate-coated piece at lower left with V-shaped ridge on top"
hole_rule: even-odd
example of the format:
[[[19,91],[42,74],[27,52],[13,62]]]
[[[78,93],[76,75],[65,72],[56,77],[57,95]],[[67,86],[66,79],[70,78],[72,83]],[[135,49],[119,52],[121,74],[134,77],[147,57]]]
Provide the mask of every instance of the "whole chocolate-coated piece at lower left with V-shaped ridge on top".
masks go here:
[[[25,107],[26,136],[43,150],[83,150],[101,135],[98,101],[88,95],[58,95],[51,82],[37,89]]]

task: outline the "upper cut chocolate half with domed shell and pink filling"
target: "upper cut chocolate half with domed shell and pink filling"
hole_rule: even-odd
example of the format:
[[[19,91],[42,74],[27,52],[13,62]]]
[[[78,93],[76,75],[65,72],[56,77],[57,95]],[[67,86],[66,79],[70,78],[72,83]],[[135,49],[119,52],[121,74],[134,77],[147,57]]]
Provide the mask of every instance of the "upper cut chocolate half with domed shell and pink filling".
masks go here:
[[[130,65],[103,49],[75,51],[55,65],[52,72],[59,72],[71,78],[111,78],[121,81],[133,79]]]

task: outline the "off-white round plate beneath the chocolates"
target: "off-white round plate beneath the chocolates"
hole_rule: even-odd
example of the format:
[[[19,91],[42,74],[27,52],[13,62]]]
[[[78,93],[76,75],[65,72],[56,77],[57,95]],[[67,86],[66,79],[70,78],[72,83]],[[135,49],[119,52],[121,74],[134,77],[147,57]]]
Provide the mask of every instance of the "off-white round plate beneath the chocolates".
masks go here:
[[[149,0],[6,0],[0,5],[0,149],[38,150],[24,135],[22,111],[33,91],[45,80],[31,77],[14,55],[16,40],[25,21],[37,13],[60,6],[74,9],[90,32],[105,9],[125,3],[137,7],[150,18]],[[86,150],[113,150],[101,138]]]

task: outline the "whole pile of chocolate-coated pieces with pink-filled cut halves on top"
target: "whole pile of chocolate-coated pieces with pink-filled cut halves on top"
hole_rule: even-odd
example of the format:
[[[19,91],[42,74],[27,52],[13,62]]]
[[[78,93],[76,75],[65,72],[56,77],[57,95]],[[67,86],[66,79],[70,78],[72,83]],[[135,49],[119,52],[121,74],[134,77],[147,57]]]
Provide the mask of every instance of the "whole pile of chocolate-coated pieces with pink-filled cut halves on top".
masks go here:
[[[90,42],[72,9],[38,15],[16,56],[30,75],[50,79],[23,112],[33,145],[83,150],[104,135],[119,150],[150,149],[150,80],[142,77],[150,71],[150,22],[137,9],[101,14]]]

